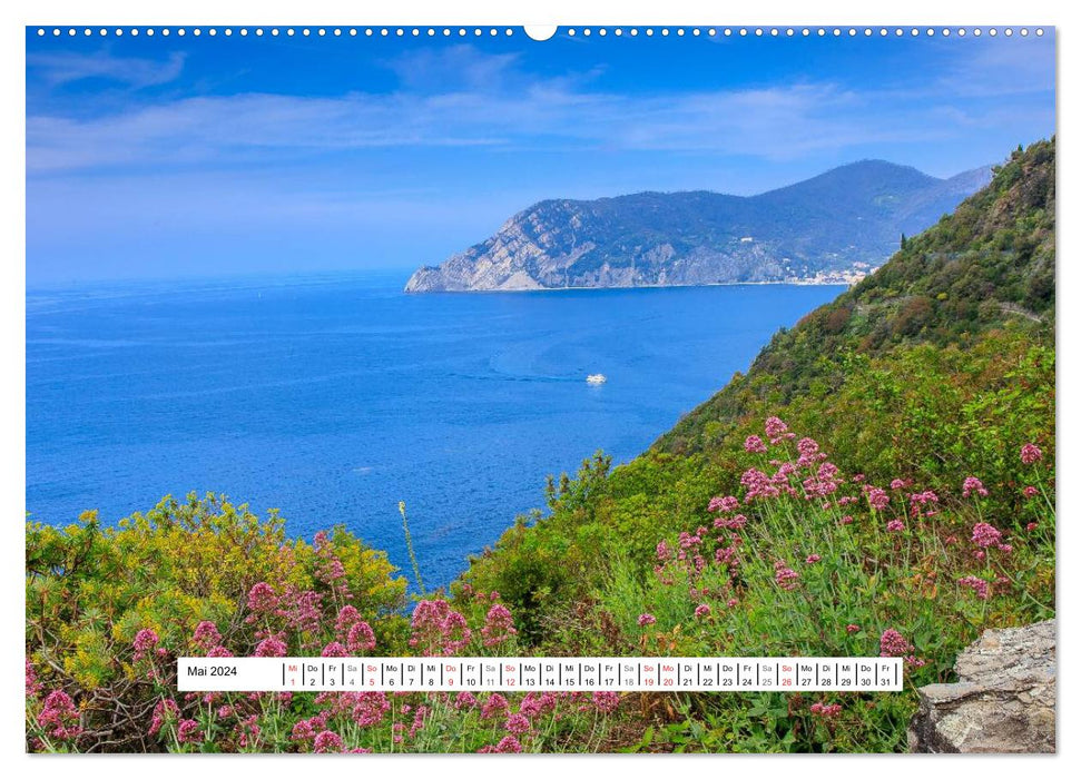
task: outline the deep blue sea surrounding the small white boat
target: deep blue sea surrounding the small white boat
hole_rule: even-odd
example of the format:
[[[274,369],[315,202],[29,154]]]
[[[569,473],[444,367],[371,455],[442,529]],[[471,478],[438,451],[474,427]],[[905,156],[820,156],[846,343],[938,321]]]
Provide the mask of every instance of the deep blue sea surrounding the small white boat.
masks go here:
[[[404,295],[401,273],[27,292],[27,510],[222,492],[443,584],[548,474],[633,458],[835,286]],[[600,386],[586,383],[603,373]]]

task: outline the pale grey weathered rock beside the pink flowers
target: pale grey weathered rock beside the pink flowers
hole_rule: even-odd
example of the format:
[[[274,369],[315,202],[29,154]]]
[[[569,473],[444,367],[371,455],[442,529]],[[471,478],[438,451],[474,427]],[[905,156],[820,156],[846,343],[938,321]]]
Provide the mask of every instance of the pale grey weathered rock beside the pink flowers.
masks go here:
[[[917,690],[913,752],[1054,752],[1055,622],[987,630],[957,657],[957,682]]]

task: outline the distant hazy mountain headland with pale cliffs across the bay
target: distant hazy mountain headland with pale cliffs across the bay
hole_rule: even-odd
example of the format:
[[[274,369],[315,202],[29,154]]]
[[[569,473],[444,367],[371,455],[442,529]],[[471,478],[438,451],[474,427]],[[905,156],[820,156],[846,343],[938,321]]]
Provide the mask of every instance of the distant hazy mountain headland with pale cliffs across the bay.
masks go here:
[[[864,160],[753,197],[640,193],[542,200],[405,290],[855,282],[991,180]]]

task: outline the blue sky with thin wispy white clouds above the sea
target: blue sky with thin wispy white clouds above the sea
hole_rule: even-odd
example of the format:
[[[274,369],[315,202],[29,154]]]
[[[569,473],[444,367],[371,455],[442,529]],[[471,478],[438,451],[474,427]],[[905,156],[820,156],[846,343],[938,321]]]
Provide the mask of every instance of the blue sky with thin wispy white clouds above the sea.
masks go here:
[[[27,283],[442,262],[548,197],[950,176],[1054,131],[1042,38],[27,31]]]

